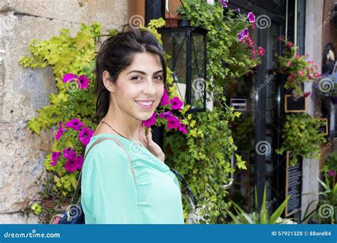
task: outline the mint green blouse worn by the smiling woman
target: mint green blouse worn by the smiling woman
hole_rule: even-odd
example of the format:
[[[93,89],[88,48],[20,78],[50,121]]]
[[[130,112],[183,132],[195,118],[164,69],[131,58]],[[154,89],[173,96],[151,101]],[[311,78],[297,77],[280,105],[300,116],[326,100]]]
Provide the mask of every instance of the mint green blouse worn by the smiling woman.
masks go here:
[[[142,144],[114,134],[92,136],[94,141],[112,136],[113,140],[92,147],[82,167],[81,202],[85,224],[183,224],[181,187],[169,166]]]

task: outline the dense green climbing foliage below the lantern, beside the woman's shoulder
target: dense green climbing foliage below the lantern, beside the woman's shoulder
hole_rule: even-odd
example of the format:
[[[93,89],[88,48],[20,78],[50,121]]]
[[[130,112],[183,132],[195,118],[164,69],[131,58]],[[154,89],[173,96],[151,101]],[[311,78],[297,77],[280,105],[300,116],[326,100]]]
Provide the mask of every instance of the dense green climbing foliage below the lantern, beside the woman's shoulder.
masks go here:
[[[190,185],[198,198],[198,205],[203,205],[200,216],[203,223],[220,223],[226,214],[228,192],[224,185],[229,182],[229,175],[235,171],[230,166],[230,158],[237,149],[233,144],[229,122],[240,113],[233,112],[225,104],[222,92],[215,93],[218,106],[212,111],[188,114],[196,124],[186,138],[179,134],[168,134],[164,139],[166,163],[175,168]],[[190,124],[191,125],[191,124]],[[236,155],[237,167],[246,169],[245,161]],[[189,207],[185,204],[185,217]]]

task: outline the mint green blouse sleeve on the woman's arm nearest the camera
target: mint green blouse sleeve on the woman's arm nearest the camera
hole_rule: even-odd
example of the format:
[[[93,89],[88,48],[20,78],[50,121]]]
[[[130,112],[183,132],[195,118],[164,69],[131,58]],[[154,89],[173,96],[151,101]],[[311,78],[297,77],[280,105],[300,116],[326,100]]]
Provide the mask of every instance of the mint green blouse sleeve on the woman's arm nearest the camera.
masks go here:
[[[89,166],[92,215],[97,224],[139,222],[137,188],[126,151],[114,141],[104,141]],[[90,173],[91,172],[91,173]]]

